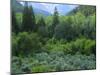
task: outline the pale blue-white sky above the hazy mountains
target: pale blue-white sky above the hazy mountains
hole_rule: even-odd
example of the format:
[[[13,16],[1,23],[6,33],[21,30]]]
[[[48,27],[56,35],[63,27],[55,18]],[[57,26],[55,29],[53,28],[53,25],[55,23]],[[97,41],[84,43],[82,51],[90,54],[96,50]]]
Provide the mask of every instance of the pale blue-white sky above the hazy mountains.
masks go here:
[[[23,2],[20,3],[24,5]],[[69,5],[69,4],[35,3],[35,2],[29,2],[29,4],[32,5],[34,8],[42,9],[51,14],[54,13],[55,7],[57,7],[60,14],[65,14],[78,6],[78,5]]]

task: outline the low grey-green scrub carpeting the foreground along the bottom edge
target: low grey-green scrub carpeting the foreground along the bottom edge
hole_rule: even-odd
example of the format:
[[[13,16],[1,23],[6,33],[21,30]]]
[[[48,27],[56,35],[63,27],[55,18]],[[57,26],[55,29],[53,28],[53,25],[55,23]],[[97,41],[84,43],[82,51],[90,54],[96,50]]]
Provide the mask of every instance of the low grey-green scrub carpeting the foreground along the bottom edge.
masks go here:
[[[69,70],[88,70],[95,69],[95,56],[67,54],[63,52],[37,53],[28,57],[16,57],[12,59],[13,73],[37,73],[55,72]]]

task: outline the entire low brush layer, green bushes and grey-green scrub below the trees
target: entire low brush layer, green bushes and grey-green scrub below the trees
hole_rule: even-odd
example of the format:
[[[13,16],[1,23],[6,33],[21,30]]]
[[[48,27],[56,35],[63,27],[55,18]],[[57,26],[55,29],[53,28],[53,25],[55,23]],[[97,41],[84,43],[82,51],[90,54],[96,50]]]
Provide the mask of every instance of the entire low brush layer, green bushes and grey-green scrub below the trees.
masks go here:
[[[16,41],[13,41],[15,43],[13,44],[13,50],[16,51],[14,52],[16,56],[13,53],[14,56],[12,57],[13,73],[55,72],[96,68],[94,40],[80,38],[66,42],[65,40],[52,38],[43,45],[40,42],[41,39],[35,38],[35,35],[34,33],[27,35],[27,32],[23,32],[16,37]],[[33,40],[36,43],[32,42]],[[16,48],[17,50],[15,50]]]

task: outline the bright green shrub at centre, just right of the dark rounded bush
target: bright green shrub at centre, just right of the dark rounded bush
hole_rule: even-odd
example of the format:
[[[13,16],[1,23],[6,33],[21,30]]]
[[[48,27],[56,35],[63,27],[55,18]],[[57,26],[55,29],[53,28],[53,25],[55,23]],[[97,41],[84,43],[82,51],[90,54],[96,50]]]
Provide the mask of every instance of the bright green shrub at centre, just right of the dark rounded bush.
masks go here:
[[[71,49],[69,48],[69,45],[67,43],[64,43],[56,39],[50,39],[47,41],[46,45],[44,46],[44,49],[47,52],[66,52],[70,53]]]

